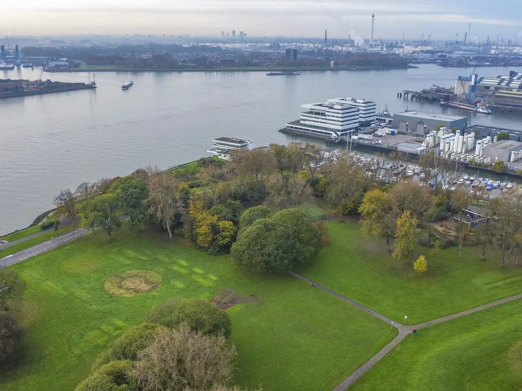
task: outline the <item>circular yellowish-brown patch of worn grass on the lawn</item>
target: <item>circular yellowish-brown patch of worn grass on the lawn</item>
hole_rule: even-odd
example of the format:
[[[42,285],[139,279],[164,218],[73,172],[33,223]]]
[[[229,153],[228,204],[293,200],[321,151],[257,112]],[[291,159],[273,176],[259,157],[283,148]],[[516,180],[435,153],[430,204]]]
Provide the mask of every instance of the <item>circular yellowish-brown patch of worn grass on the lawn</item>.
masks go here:
[[[115,296],[136,296],[156,289],[162,278],[147,270],[131,270],[113,275],[105,281],[105,290]]]

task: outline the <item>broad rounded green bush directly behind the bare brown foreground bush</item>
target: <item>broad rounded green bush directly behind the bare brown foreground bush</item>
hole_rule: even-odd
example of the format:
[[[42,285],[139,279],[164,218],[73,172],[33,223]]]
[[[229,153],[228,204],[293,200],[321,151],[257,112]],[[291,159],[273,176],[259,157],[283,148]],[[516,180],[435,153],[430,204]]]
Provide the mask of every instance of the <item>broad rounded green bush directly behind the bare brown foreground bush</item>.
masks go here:
[[[148,313],[147,321],[171,328],[185,323],[193,331],[205,335],[222,333],[226,338],[232,333],[230,315],[203,299],[169,300],[158,304]]]

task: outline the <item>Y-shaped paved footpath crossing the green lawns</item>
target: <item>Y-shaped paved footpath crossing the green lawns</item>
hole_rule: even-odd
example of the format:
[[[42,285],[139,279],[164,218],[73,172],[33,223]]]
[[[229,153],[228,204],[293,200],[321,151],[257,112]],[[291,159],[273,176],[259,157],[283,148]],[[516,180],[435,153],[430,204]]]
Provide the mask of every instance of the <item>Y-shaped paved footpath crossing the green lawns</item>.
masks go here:
[[[301,275],[299,275],[297,273],[294,273],[294,272],[289,272],[289,273],[292,276],[294,276],[294,277],[297,277],[297,278],[302,279],[303,281],[306,281],[307,283],[311,283],[312,282],[312,280],[310,280],[310,279],[308,279],[306,277],[303,277],[303,276],[301,276]],[[522,299],[522,294],[519,294],[519,295],[515,295],[515,296],[511,296],[511,297],[506,297],[505,299],[493,301],[493,302],[488,303],[488,304],[483,304],[482,306],[479,306],[479,307],[476,307],[476,308],[472,308],[470,310],[458,312],[458,313],[453,314],[453,315],[440,317],[439,319],[434,319],[432,321],[420,323],[420,324],[413,325],[413,326],[405,326],[405,325],[397,323],[397,322],[395,322],[395,321],[393,321],[391,319],[388,319],[386,316],[381,315],[378,312],[375,312],[373,310],[370,310],[369,308],[364,307],[362,304],[359,304],[357,301],[353,301],[351,299],[348,299],[347,297],[342,296],[342,295],[338,294],[337,292],[334,292],[333,290],[326,288],[323,285],[319,285],[319,284],[315,283],[315,287],[319,288],[321,290],[324,290],[325,292],[328,292],[330,295],[333,295],[333,296],[337,297],[338,299],[341,299],[342,301],[346,301],[347,303],[350,303],[352,306],[357,307],[360,310],[363,310],[364,312],[369,313],[370,315],[373,315],[373,316],[377,317],[378,319],[380,319],[380,320],[382,320],[382,321],[384,321],[384,322],[386,322],[386,323],[388,323],[390,325],[393,325],[399,331],[399,335],[398,336],[396,336],[384,348],[379,350],[377,352],[377,354],[375,356],[373,356],[370,360],[368,360],[366,363],[364,363],[362,366],[360,366],[359,369],[357,369],[355,372],[350,374],[345,380],[343,380],[341,383],[339,383],[333,389],[333,391],[344,391],[344,390],[348,389],[362,375],[364,375],[366,372],[368,372],[372,368],[372,366],[375,365],[375,363],[377,363],[384,356],[386,356],[390,351],[392,351],[393,348],[395,348],[397,345],[399,345],[399,343],[411,333],[411,329],[412,328],[419,329],[419,328],[424,328],[424,327],[428,327],[428,326],[433,326],[435,324],[439,324],[439,323],[443,323],[443,322],[446,322],[446,321],[449,321],[449,320],[452,320],[452,319],[456,319],[457,317],[460,317],[460,316],[469,315],[469,314],[472,314],[474,312],[478,312],[478,311],[481,311],[481,310],[485,310],[487,308],[495,307],[495,306],[498,306],[499,304],[504,304],[504,303],[507,303],[507,302],[510,302],[510,301]]]

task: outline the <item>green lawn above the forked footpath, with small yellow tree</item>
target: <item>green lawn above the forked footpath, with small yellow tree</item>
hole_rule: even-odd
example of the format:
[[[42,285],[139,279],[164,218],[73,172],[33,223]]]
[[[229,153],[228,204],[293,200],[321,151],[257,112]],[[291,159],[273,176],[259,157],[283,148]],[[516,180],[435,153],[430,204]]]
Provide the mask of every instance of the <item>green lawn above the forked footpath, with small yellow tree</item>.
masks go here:
[[[522,292],[522,267],[481,262],[476,248],[464,248],[460,260],[458,248],[443,250],[434,270],[416,277],[391,271],[384,239],[364,238],[360,224],[328,226],[331,244],[299,272],[397,322],[417,324]]]

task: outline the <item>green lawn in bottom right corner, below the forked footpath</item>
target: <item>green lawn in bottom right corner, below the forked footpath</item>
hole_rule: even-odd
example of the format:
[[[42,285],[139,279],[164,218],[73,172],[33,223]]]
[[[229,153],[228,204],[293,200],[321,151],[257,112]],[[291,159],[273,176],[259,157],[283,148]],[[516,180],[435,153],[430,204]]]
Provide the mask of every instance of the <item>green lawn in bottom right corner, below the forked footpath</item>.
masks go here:
[[[350,391],[520,391],[506,352],[519,338],[522,300],[409,335]]]

